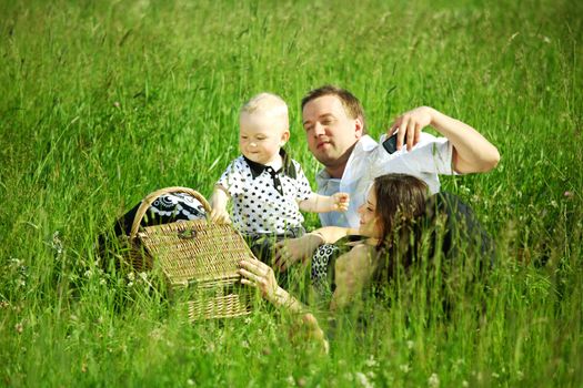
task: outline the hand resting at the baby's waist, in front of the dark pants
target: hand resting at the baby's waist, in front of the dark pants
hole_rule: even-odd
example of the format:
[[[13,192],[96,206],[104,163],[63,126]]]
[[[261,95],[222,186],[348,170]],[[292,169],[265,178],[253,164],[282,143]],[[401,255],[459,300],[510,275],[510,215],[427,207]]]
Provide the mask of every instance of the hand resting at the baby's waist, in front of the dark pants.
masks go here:
[[[324,243],[321,235],[309,233],[300,238],[289,238],[274,245],[275,257],[273,267],[284,272],[299,261],[311,257],[315,249]]]

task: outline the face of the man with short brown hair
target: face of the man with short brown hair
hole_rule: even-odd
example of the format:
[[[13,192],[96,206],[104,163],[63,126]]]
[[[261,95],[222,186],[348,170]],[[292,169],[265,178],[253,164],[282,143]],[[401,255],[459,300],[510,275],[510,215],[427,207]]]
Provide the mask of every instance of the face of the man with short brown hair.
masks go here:
[[[326,167],[343,167],[362,136],[362,120],[349,118],[335,95],[310,101],[302,116],[308,146],[315,159]]]

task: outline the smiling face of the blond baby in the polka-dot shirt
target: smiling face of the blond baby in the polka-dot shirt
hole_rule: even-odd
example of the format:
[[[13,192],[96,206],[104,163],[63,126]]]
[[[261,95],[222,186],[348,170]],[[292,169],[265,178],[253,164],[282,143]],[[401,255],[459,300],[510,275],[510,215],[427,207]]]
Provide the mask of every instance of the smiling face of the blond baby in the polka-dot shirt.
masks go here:
[[[249,160],[270,164],[290,136],[283,118],[257,113],[242,113],[239,130],[239,147]]]

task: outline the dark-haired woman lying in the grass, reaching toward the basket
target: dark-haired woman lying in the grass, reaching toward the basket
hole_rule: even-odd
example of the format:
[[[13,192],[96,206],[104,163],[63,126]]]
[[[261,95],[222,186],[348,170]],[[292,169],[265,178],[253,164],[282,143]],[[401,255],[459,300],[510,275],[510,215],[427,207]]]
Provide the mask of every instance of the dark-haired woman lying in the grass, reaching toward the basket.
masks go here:
[[[345,306],[365,287],[375,286],[380,289],[386,286],[398,270],[411,266],[421,251],[434,256],[435,225],[445,225],[442,231],[446,233],[440,233],[443,244],[438,246],[446,257],[453,257],[454,247],[458,246],[458,241],[452,241],[453,235],[471,242],[483,254],[492,253],[490,238],[468,206],[449,194],[438,194],[428,201],[425,183],[410,175],[388,174],[376,177],[365,204],[359,208],[359,215],[358,231],[323,227],[296,241],[305,256],[311,256],[316,246],[321,247],[320,251],[323,246],[325,251],[326,245],[323,244],[334,243],[338,258],[334,259],[334,255],[330,254],[319,255],[321,252],[312,258],[312,268],[316,264],[321,265],[318,261],[324,262],[325,276],[331,279],[331,310]],[[428,235],[424,233],[428,231],[431,238],[425,238]],[[354,233],[358,235],[353,236]],[[431,247],[428,249],[423,243]],[[283,253],[278,258],[289,255],[285,245],[281,251]],[[278,285],[271,267],[257,259],[243,261],[240,265],[241,283],[259,288],[262,296],[273,305],[300,313],[314,338],[328,347],[313,315]]]

